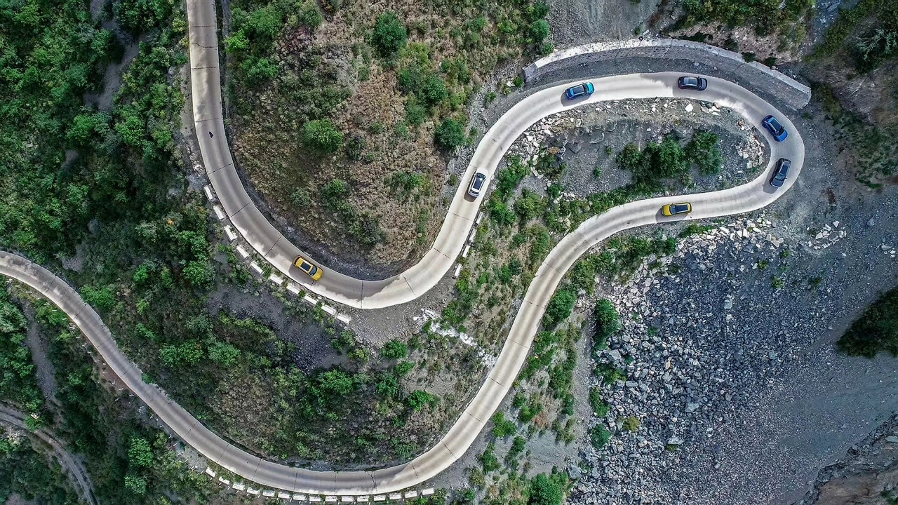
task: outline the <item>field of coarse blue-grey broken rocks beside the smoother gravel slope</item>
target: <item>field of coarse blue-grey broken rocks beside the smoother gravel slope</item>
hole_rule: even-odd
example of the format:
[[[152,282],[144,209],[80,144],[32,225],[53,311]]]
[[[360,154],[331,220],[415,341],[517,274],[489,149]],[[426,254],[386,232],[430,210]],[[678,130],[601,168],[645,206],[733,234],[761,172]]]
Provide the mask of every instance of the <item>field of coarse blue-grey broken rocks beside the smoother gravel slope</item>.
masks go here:
[[[762,339],[746,326],[755,304],[734,279],[737,272],[770,275],[752,273],[750,265],[759,254],[779,256],[783,239],[775,234],[773,224],[758,217],[692,235],[671,256],[647,258],[606,293],[622,329],[598,359],[626,377],[601,385],[611,409],[593,423],[611,430],[612,439],[581,451],[571,503],[698,502],[681,496],[671,471],[733,430],[737,413],[753,405],[746,391],[766,387],[793,359],[783,345],[787,328]],[[593,380],[598,385],[601,379]],[[623,428],[621,420],[630,416],[640,421],[635,432]],[[714,461],[719,465],[717,456]]]

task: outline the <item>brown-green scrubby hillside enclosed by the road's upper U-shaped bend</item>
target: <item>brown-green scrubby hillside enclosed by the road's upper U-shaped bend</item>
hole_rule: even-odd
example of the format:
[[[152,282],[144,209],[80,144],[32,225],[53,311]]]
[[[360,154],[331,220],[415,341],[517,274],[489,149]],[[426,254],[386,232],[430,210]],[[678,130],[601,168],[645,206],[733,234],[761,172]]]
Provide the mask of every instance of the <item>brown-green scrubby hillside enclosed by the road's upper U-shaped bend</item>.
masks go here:
[[[499,63],[550,50],[539,43],[546,9],[526,0],[325,7],[321,20],[314,4],[235,4],[232,39],[242,31],[249,44],[234,50],[225,40],[234,153],[305,238],[345,260],[401,267],[423,253],[445,214],[453,149],[437,146],[437,127],[467,122],[471,97]],[[266,9],[284,23],[260,50],[268,42],[259,33],[270,26],[259,29],[253,16]],[[405,32],[388,54],[372,35],[385,13]],[[256,65],[261,59],[267,63]],[[434,80],[435,93],[422,91]],[[312,120],[332,121],[340,141],[326,152],[310,149],[303,138]],[[464,143],[455,133],[453,143]],[[348,182],[348,191],[329,200],[322,189],[333,180]]]

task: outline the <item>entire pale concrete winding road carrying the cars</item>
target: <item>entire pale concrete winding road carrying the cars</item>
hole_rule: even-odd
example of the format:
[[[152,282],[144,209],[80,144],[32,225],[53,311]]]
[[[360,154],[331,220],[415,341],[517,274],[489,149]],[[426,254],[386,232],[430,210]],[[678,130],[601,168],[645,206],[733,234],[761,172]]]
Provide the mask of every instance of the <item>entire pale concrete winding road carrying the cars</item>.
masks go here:
[[[576,102],[564,101],[562,94],[568,84],[559,84],[524,98],[489,129],[462,178],[436,242],[418,264],[398,276],[379,281],[353,279],[328,270],[320,282],[312,283],[303,273],[290,267],[296,254],[300,253],[299,250],[271,226],[255,207],[234,168],[222,120],[215,4],[210,0],[189,0],[188,13],[192,100],[197,137],[209,180],[215,187],[227,216],[252,247],[277,270],[309,291],[348,306],[372,309],[397,305],[421,296],[436,285],[461,252],[480,207],[480,199],[468,199],[465,196],[471,175],[480,169],[491,176],[515,137],[537,120],[551,114],[609,100],[689,97],[730,108],[753,125],[760,126],[765,115],[774,114],[789,131],[784,142],[775,142],[766,131],[763,132],[770,144],[770,162],[766,170],[752,182],[728,190],[627,203],[585,220],[575,231],[565,236],[537,270],[489,377],[445,437],[409,463],[374,471],[315,472],[266,461],[233,446],[207,430],[189,412],[172,402],[158,386],[145,384],[140,370],[119,350],[100,316],[66,282],[31,261],[12,253],[0,252],[0,274],[35,288],[65,311],[110,368],[181,439],[217,465],[253,483],[277,490],[344,496],[370,495],[407,489],[439,474],[471,447],[508,393],[530,350],[545,305],[565,272],[580,255],[609,236],[635,226],[657,225],[678,219],[726,216],[762,208],[778,199],[797,180],[805,159],[801,135],[785,114],[750,91],[726,80],[708,77],[709,89],[695,93],[677,89],[677,75],[673,73],[603,77],[593,80],[595,93],[592,97]],[[774,190],[767,179],[779,157],[792,160],[792,173],[784,187]],[[661,216],[659,209],[662,205],[684,200],[692,203],[694,210],[691,215]]]

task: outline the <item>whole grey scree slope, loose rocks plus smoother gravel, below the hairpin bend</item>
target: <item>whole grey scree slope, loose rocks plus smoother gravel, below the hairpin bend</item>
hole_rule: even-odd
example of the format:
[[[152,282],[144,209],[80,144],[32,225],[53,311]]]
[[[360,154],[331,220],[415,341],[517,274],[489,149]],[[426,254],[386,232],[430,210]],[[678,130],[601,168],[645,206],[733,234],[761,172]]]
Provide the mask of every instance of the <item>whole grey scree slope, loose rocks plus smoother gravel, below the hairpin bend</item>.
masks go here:
[[[611,409],[588,425],[612,437],[586,437],[571,503],[792,503],[898,409],[898,360],[833,350],[850,279],[817,270],[845,256],[845,225],[827,226],[795,236],[764,215],[718,221],[605,287],[622,329],[596,359],[625,377],[591,379]]]

